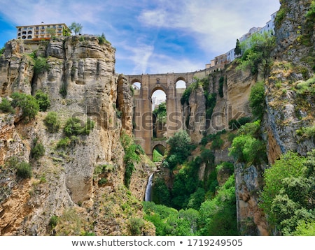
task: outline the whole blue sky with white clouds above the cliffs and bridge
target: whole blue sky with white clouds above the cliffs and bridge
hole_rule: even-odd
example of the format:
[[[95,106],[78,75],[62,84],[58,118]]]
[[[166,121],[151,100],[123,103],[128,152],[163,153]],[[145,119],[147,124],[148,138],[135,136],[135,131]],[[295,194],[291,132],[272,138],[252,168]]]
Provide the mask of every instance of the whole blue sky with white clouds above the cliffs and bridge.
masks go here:
[[[0,0],[0,47],[16,26],[78,22],[83,34],[116,47],[116,72],[199,71],[251,27],[263,27],[279,0]]]

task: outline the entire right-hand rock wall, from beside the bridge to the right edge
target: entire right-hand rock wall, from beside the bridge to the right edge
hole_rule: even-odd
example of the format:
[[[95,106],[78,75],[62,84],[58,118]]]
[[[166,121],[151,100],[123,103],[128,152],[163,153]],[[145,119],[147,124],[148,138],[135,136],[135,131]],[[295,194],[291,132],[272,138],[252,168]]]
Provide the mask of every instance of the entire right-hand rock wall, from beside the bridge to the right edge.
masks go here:
[[[314,94],[309,92],[309,78],[314,78],[314,20],[307,17],[311,1],[281,1],[276,17],[276,47],[272,52],[274,59],[269,75],[262,72],[252,75],[249,71],[238,71],[232,63],[220,72],[209,75],[207,88],[196,89],[190,95],[190,110],[207,112],[203,91],[216,93],[216,105],[207,133],[228,130],[228,122],[239,117],[251,117],[248,99],[251,87],[256,82],[265,83],[265,112],[262,117],[260,135],[266,144],[267,162],[259,166],[246,166],[235,162],[237,220],[239,231],[244,235],[270,235],[265,214],[259,208],[259,192],[263,188],[263,172],[281,154],[294,151],[301,155],[314,149],[314,138],[302,133],[304,128],[314,126]],[[220,86],[221,84],[221,86]],[[309,89],[302,89],[305,84]],[[220,95],[219,89],[223,95]],[[197,98],[196,98],[197,96]],[[203,98],[202,98],[203,97]],[[193,119],[195,118],[195,119]],[[202,138],[200,119],[190,117],[190,127],[195,128],[191,135],[196,142]],[[187,115],[186,115],[187,119]],[[201,128],[197,130],[197,128]],[[223,138],[221,136],[221,138]],[[222,161],[233,162],[228,156],[230,143],[226,138],[220,149],[214,150],[215,164]],[[206,145],[211,147],[211,142]],[[202,168],[200,170],[204,173]]]

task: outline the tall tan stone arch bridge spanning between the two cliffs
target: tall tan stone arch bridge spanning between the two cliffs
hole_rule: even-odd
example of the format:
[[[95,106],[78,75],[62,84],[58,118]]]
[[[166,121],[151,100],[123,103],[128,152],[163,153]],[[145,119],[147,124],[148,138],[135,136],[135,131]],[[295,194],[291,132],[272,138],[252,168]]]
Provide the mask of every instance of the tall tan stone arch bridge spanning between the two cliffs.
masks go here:
[[[165,140],[153,140],[152,95],[154,91],[160,89],[166,94],[166,137],[169,138],[183,129],[184,125],[181,96],[185,88],[176,88],[176,83],[183,80],[188,87],[194,77],[205,78],[209,73],[211,71],[205,69],[191,73],[125,75],[130,84],[135,82],[141,84],[139,89],[134,89],[134,137],[148,156],[152,156],[153,149],[157,145],[167,146]]]

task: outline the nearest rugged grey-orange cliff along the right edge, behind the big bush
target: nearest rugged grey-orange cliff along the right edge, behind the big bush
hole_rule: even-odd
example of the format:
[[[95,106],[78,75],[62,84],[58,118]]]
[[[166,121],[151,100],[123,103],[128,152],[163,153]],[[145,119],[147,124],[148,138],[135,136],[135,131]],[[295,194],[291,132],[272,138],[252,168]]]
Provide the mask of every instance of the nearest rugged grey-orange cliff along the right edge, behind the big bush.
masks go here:
[[[314,21],[307,20],[311,1],[281,1],[276,21],[274,64],[265,79],[265,115],[262,138],[267,145],[267,165],[235,165],[240,230],[249,235],[270,235],[265,214],[258,209],[262,173],[281,154],[306,155],[314,140],[298,131],[314,124],[314,95],[299,91],[298,84],[314,74]],[[313,76],[314,77],[314,76]]]

